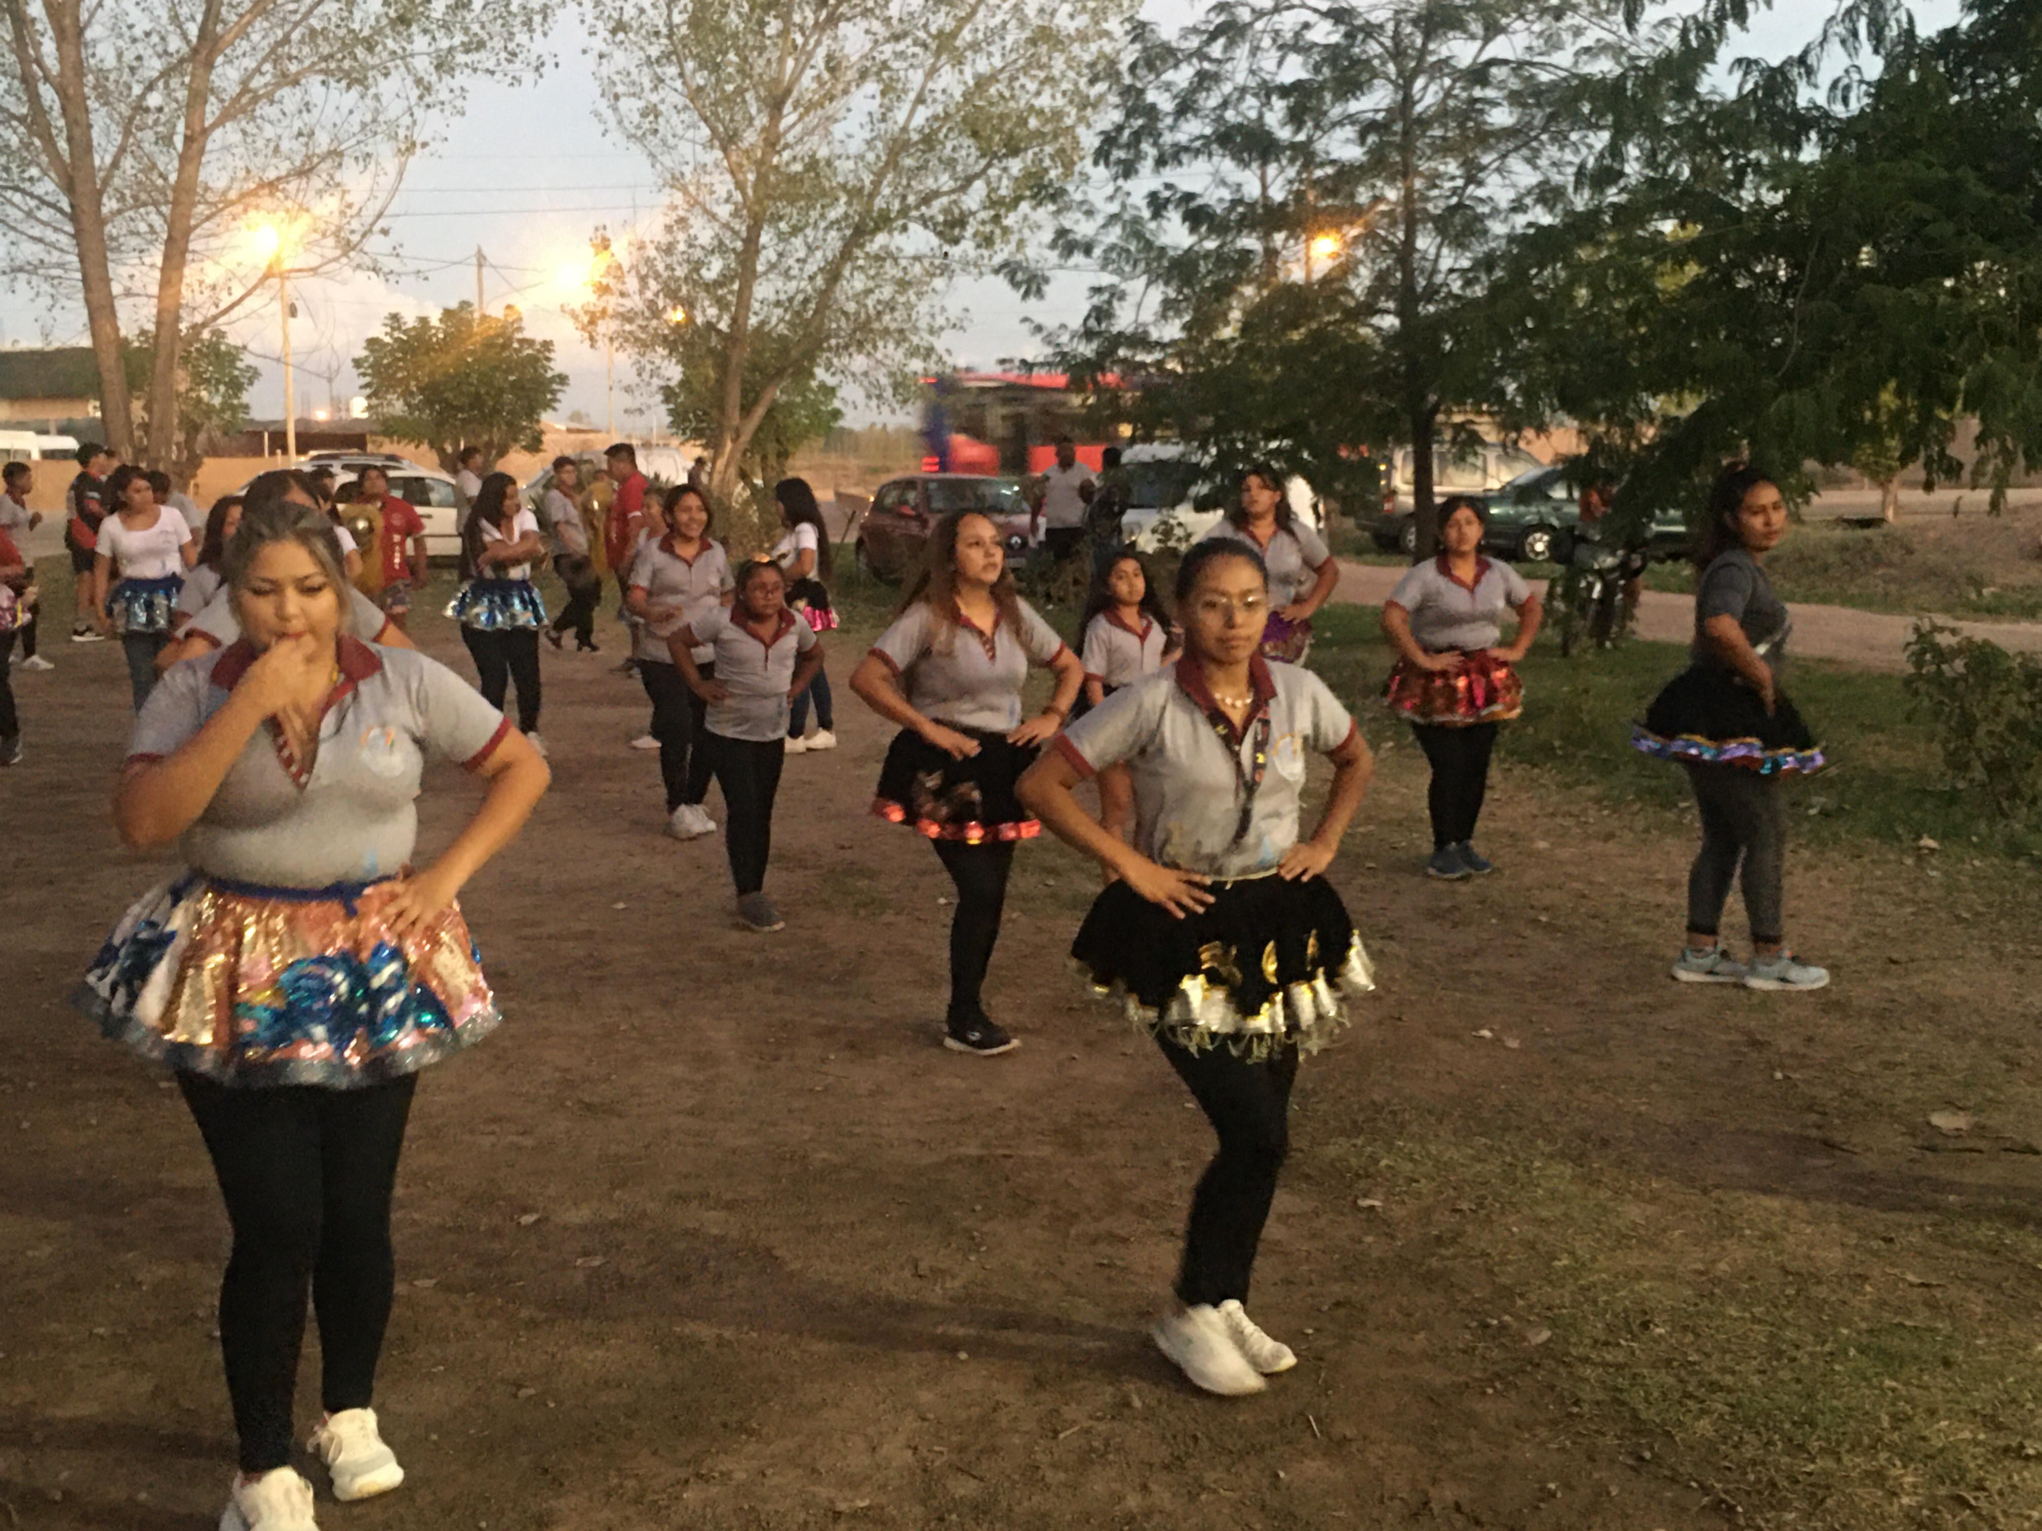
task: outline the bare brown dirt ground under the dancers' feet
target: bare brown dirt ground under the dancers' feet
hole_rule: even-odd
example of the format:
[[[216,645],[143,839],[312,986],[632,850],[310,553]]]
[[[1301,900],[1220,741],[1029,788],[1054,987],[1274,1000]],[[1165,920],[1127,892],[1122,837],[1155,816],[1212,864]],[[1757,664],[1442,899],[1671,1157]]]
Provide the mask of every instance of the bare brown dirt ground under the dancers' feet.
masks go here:
[[[1987,939],[2009,992],[2032,986],[2032,933],[1975,933],[1954,870],[1801,857],[1795,929],[1838,986],[1695,992],[1664,978],[1679,825],[1505,774],[1503,872],[1427,884],[1415,751],[1391,749],[1333,872],[1382,988],[1305,1068],[1258,1268],[1254,1311],[1301,1366],[1199,1396],[1144,1325],[1211,1139],[1066,976],[1086,868],[1021,851],[990,1004],[1023,1049],[947,1053],[947,884],[866,814],[886,733],[841,686],[849,655],[843,747],[786,768],[788,929],[753,937],[721,837],[658,835],[613,635],[545,655],[555,786],[466,896],[508,1025],[412,1117],[378,1398],[410,1478],[337,1507],[314,1476],[327,1527],[1717,1527],[1701,1466],[1581,1427],[1562,1360],[1470,1339],[1511,1294],[1431,1219],[1360,1204],[1354,1145],[1417,1113],[1687,1186],[2034,1219],[2034,1159],[1924,1170],[1899,1123],[1934,1084],[1850,1061],[1864,1025],[1979,1008],[1952,980]],[[204,1531],[233,1462],[225,1217],[172,1086],[65,1004],[163,861],[106,821],[116,645],[51,647],[55,674],[16,678],[29,757],[0,774],[0,1517]],[[468,672],[451,633],[429,647]],[[474,794],[429,788],[427,847]],[[1993,1053],[1997,1023],[1964,1025]]]

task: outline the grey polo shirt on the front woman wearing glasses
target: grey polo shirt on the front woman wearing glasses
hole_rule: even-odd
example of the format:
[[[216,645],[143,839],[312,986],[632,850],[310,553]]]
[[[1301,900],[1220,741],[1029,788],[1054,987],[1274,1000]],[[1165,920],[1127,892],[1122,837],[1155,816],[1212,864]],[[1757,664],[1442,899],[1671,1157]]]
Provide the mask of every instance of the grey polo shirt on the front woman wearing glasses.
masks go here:
[[[1086,778],[1127,766],[1133,845],[1158,866],[1211,878],[1272,872],[1297,845],[1307,759],[1340,749],[1354,733],[1348,708],[1313,672],[1256,655],[1248,678],[1254,702],[1239,735],[1215,727],[1223,714],[1205,668],[1186,655],[1115,692],[1056,737],[1056,749]],[[1268,745],[1256,784],[1262,719]],[[1244,802],[1248,831],[1235,837]]]

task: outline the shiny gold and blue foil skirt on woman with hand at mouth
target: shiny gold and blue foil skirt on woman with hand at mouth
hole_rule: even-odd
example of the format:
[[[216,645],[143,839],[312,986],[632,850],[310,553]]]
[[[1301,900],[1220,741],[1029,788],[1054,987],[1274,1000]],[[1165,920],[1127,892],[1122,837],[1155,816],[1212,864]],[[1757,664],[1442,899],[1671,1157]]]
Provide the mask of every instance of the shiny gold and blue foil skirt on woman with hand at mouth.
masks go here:
[[[412,1074],[500,1015],[459,906],[398,937],[402,884],[251,888],[184,874],[123,917],[76,1002],[114,1041],[221,1084]]]

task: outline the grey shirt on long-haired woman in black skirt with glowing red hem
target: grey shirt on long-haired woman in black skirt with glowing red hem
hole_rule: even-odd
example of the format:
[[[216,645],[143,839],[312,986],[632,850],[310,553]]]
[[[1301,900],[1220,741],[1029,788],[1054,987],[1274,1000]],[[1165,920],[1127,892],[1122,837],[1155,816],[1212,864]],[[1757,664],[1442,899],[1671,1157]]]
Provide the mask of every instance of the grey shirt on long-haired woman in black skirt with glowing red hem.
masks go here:
[[[1021,682],[1033,659],[1056,661],[1064,639],[1025,600],[1021,631],[996,621],[980,633],[964,612],[941,621],[917,600],[872,643],[872,653],[905,682],[909,706],[954,729],[1007,733],[1021,723]]]

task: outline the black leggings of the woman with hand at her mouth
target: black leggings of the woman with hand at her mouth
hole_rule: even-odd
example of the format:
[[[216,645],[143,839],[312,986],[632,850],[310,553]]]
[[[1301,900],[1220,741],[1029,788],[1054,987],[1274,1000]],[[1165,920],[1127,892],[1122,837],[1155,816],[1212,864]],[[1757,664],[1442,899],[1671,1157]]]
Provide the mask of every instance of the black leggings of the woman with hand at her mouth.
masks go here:
[[[241,1472],[290,1462],[304,1294],[319,1315],[321,1402],[368,1409],[390,1323],[390,1194],[419,1078],[363,1090],[229,1088],[180,1074],[235,1231],[221,1355]]]

